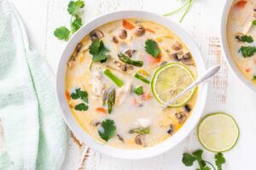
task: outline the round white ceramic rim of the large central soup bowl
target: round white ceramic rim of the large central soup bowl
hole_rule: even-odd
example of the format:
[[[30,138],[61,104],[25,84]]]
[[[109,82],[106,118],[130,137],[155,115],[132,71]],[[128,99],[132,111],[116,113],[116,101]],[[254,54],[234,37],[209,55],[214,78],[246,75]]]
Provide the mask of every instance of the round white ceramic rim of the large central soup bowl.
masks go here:
[[[87,25],[80,28],[79,31],[75,35],[73,35],[70,41],[67,42],[67,47],[64,49],[62,53],[57,71],[56,92],[59,105],[61,107],[62,116],[67,122],[68,127],[70,127],[73,133],[81,141],[83,141],[85,144],[88,144],[94,150],[97,150],[102,154],[106,154],[108,156],[119,157],[124,159],[141,159],[150,156],[156,156],[159,155],[160,153],[165,152],[166,150],[171,149],[190,133],[190,131],[195,127],[196,123],[199,121],[201,113],[204,109],[204,105],[207,99],[207,84],[205,84],[204,86],[201,85],[199,87],[198,99],[196,101],[195,108],[191,116],[189,116],[189,120],[171,138],[166,139],[164,142],[160,144],[156,144],[153,147],[148,147],[142,150],[122,150],[118,148],[113,148],[106,144],[99,144],[94,139],[92,139],[86,132],[84,132],[82,127],[79,126],[79,123],[76,122],[67,105],[67,100],[65,98],[65,74],[67,69],[67,61],[73,53],[73,49],[76,47],[76,45],[90,31],[94,30],[98,26],[102,26],[103,24],[108,23],[109,21],[125,18],[140,18],[144,20],[152,20],[156,23],[159,23],[162,26],[166,26],[166,28],[176,33],[177,36],[180,37],[182,41],[188,46],[190,52],[195,57],[195,63],[197,65],[197,71],[199,76],[201,76],[201,74],[206,71],[204,60],[201,56],[200,51],[196,47],[195,42],[192,41],[191,37],[189,37],[189,35],[185,31],[183,31],[181,27],[177,26],[171,20],[167,20],[166,18],[158,14],[152,14],[143,11],[119,11],[111,14],[104,14],[96,18],[95,20],[90,21]]]

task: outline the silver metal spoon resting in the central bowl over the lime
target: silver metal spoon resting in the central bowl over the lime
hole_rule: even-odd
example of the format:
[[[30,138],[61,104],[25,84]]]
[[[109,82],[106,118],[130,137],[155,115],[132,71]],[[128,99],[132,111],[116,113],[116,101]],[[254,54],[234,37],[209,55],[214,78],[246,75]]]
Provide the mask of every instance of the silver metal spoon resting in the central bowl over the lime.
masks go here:
[[[197,85],[199,85],[201,82],[207,82],[209,79],[211,79],[220,69],[220,65],[214,65],[211,68],[209,68],[205,74],[201,77],[198,77],[195,82],[193,82],[192,84],[189,85],[188,88],[184,89],[182,93],[177,94],[177,96],[173,99],[171,99],[170,101],[166,102],[165,105],[162,106],[162,109],[166,109],[166,107],[168,105],[171,105],[172,102],[174,102],[176,99],[180,98],[181,96],[183,96],[183,94],[186,94],[187,92],[189,92],[189,90],[191,90],[192,88],[195,88]]]

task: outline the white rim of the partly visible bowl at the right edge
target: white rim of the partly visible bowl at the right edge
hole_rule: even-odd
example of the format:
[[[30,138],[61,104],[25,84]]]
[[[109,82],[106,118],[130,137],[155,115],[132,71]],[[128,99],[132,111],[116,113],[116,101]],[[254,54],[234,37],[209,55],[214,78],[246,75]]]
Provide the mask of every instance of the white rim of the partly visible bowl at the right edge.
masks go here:
[[[247,88],[251,89],[254,93],[256,93],[256,86],[253,85],[252,82],[247,80],[247,78],[241,73],[239,68],[236,66],[235,61],[232,59],[232,56],[230,54],[230,49],[229,45],[227,42],[227,34],[226,34],[226,27],[227,27],[227,21],[230,13],[230,7],[233,3],[233,0],[227,0],[224,9],[223,9],[223,14],[222,14],[222,20],[221,20],[221,43],[222,43],[222,48],[224,50],[224,57],[225,60],[227,61],[228,65],[230,66],[231,70],[234,71],[236,77],[247,86]]]

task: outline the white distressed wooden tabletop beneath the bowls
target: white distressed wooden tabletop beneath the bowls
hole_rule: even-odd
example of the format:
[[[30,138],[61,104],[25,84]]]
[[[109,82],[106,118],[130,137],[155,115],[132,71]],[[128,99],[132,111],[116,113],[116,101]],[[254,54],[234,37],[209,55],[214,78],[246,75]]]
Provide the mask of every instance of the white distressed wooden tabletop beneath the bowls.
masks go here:
[[[57,40],[53,31],[58,26],[68,26],[68,0],[12,0],[24,20],[32,46],[45,56],[49,65],[56,71],[61,51],[66,42]],[[143,9],[164,14],[178,7],[177,0],[85,0],[84,23],[99,14],[119,9]],[[181,26],[194,38],[207,66],[220,64],[222,69],[209,82],[209,95],[204,115],[212,111],[225,111],[236,118],[241,130],[238,144],[233,150],[224,153],[227,163],[224,169],[256,169],[256,94],[252,94],[239,82],[225,64],[219,42],[219,27],[225,0],[195,0],[189,14]],[[178,20],[177,15],[169,17]],[[104,156],[94,150],[88,150],[85,144],[79,144],[69,138],[67,158],[63,169],[147,169],[181,170],[195,169],[184,167],[181,162],[184,151],[201,148],[195,130],[172,150],[146,160],[127,161]],[[84,156],[86,155],[86,156]],[[205,151],[210,160],[211,152]],[[84,160],[84,164],[81,162]],[[212,160],[213,161],[213,160]]]

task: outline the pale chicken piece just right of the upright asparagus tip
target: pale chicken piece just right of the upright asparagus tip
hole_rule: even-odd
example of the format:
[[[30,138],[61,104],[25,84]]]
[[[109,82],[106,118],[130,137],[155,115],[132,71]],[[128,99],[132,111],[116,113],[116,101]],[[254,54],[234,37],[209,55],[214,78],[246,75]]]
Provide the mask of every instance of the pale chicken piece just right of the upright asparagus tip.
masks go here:
[[[131,82],[126,82],[122,88],[116,89],[115,105],[121,105],[129,93],[131,93]]]

